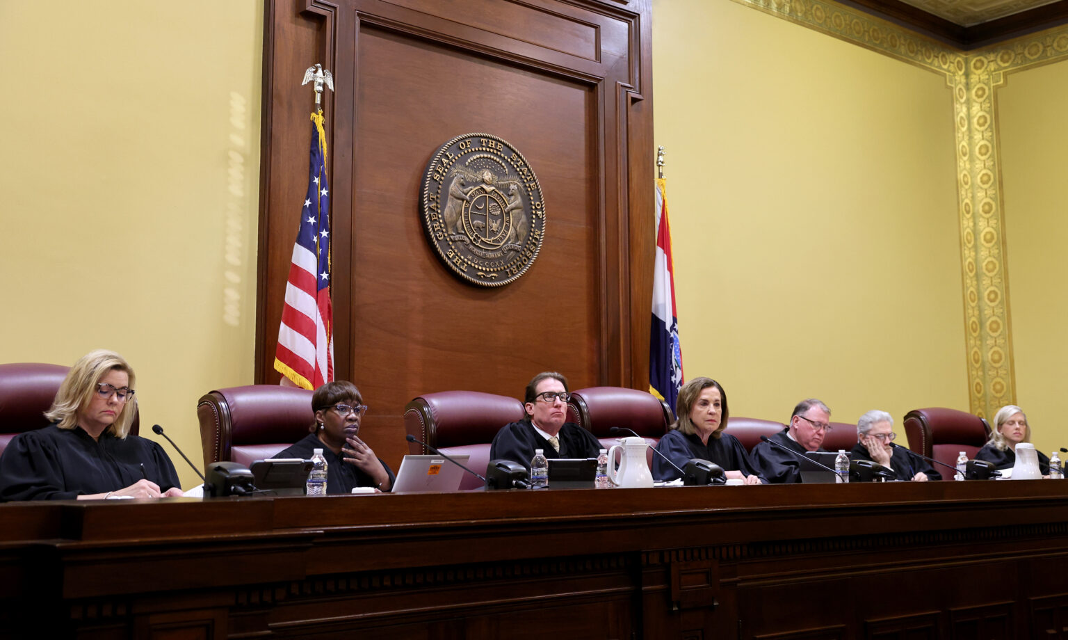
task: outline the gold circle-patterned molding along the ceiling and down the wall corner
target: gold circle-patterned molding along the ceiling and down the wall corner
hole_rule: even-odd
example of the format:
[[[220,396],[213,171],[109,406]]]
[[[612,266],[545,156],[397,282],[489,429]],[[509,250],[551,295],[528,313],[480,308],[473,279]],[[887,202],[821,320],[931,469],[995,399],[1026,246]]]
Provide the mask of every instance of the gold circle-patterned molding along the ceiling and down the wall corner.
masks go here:
[[[1068,26],[965,52],[836,2],[735,2],[945,77],[953,90],[971,410],[992,417],[999,407],[1016,404],[994,95],[1012,72],[1068,60]]]

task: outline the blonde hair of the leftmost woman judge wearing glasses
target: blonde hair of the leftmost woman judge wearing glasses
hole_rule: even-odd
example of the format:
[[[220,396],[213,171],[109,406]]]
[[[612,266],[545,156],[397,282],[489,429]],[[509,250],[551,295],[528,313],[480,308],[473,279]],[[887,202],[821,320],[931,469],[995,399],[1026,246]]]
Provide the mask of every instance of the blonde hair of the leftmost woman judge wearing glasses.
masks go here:
[[[123,371],[129,376],[129,388],[134,389],[137,376],[126,360],[114,352],[96,349],[81,357],[67,372],[60,390],[56,393],[52,406],[45,411],[45,418],[57,423],[60,428],[78,426],[78,411],[89,406],[93,395],[97,393],[97,384],[109,371]],[[137,396],[130,395],[123,409],[115,416],[115,421],[105,431],[110,431],[119,438],[125,438],[134,424],[137,415]]]

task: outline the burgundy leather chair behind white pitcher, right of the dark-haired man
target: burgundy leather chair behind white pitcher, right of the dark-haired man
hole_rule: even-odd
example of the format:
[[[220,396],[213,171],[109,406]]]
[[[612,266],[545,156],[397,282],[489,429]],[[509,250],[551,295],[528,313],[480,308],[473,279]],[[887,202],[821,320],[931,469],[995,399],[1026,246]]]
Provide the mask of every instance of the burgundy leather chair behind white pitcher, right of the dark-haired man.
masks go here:
[[[571,392],[568,420],[588,431],[608,449],[630,434],[611,435],[613,426],[633,430],[650,449],[645,455],[651,468],[653,447],[668,433],[674,418],[668,405],[648,391],[626,387],[588,387]]]

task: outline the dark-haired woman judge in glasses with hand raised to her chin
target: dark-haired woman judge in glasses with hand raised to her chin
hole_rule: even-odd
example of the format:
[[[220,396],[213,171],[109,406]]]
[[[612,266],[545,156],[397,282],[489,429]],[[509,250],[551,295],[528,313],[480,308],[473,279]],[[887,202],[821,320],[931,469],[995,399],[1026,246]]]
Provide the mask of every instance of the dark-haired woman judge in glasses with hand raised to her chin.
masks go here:
[[[312,394],[312,433],[276,458],[310,459],[315,449],[321,449],[327,461],[327,494],[348,494],[356,487],[388,491],[393,487],[393,470],[357,436],[367,406],[356,385],[348,380],[323,385]]]

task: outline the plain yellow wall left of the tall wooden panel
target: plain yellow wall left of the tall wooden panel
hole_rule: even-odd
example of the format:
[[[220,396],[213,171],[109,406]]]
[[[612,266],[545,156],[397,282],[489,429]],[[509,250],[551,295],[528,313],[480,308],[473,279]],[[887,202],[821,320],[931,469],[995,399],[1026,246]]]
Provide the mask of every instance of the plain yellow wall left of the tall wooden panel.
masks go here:
[[[262,41],[262,0],[0,3],[0,362],[120,352],[198,465],[252,379]]]

